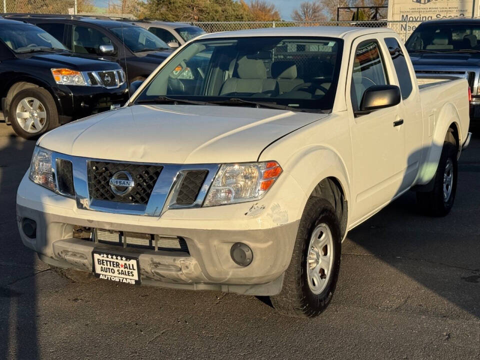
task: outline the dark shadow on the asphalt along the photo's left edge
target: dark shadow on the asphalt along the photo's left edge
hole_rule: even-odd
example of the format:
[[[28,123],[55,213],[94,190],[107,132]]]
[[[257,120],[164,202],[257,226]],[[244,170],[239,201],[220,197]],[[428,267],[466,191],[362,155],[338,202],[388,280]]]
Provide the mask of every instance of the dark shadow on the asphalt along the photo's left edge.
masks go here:
[[[0,358],[36,359],[36,255],[25,248],[16,227],[15,197],[34,141],[0,135]],[[18,164],[22,164],[19,166]],[[13,179],[13,180],[11,180]]]

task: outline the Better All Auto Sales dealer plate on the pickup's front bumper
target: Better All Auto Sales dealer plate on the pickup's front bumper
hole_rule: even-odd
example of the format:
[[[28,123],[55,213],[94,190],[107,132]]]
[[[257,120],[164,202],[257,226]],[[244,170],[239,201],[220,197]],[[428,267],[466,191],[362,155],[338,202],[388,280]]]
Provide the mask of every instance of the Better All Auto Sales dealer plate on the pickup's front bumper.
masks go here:
[[[138,258],[93,250],[93,273],[105,280],[140,283]]]

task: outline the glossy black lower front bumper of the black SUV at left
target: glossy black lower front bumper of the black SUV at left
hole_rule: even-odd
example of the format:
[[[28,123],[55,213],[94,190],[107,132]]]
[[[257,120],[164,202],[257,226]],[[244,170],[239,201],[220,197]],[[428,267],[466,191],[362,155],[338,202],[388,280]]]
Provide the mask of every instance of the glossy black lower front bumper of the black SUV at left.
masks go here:
[[[126,83],[116,88],[58,85],[52,92],[59,103],[60,123],[122,106],[128,100]]]

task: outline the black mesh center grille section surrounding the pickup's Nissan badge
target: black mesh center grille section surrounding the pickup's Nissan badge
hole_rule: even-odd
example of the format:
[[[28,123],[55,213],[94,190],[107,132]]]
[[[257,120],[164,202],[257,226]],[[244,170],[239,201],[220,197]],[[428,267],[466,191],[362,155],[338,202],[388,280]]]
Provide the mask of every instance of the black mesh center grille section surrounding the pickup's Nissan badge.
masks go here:
[[[162,166],[159,165],[91,160],[88,162],[88,191],[90,197],[98,200],[146,204],[161,169]],[[114,193],[109,183],[118,171],[128,172],[134,181],[133,188],[124,195]],[[126,189],[126,186],[118,186],[117,188]]]

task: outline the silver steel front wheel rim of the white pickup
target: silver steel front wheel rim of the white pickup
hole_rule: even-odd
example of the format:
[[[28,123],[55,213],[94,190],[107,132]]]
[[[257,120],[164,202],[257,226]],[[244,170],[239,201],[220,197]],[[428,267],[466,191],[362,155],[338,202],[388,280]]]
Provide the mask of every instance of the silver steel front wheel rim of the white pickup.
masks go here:
[[[319,294],[328,283],[333,264],[333,238],[327,224],[321,223],[313,229],[308,249],[308,286],[311,292]]]

